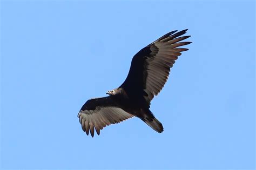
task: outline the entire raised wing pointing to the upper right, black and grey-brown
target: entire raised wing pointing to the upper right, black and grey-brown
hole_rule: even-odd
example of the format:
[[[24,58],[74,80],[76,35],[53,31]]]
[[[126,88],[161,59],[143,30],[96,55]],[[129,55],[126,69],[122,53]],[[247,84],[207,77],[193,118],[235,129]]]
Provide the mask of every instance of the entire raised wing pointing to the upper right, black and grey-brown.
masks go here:
[[[120,86],[131,96],[143,95],[146,103],[163,89],[170,73],[170,68],[188,49],[179,46],[191,42],[180,42],[190,36],[183,36],[187,30],[172,31],[140,50],[133,58],[127,78]],[[175,33],[177,32],[177,33]],[[133,94],[136,93],[136,94]]]

